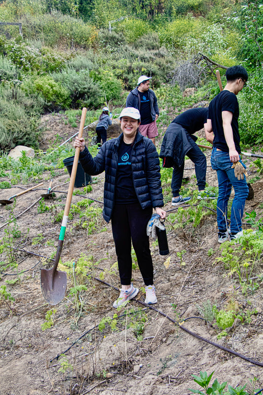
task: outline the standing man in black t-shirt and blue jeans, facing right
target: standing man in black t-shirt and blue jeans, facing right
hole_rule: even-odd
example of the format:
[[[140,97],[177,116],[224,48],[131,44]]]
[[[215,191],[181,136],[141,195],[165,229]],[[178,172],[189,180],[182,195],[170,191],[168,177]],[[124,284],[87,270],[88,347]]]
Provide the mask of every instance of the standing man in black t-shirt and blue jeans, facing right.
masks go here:
[[[246,85],[248,74],[243,66],[229,67],[225,73],[226,85],[209,104],[207,131],[214,132],[211,165],[217,171],[219,195],[217,201],[218,241],[238,239],[243,235],[242,217],[248,197],[245,168],[239,154],[239,107],[236,95]],[[238,165],[236,166],[236,164]],[[238,174],[236,169],[241,168]],[[231,207],[230,228],[227,228],[227,204],[233,186],[235,196]]]

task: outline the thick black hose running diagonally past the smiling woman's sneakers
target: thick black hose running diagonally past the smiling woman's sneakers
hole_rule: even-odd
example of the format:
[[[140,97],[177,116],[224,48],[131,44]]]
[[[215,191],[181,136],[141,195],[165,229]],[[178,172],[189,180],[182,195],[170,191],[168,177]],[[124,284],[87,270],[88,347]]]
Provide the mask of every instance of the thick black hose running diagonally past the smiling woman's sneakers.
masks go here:
[[[114,287],[113,285],[109,284],[108,282],[103,281],[103,280],[101,280],[101,279],[99,279],[99,278],[96,278],[96,277],[94,277],[94,278],[95,278],[95,280],[97,280],[97,281],[99,281],[99,282],[102,282],[102,283],[105,284],[105,285],[108,285],[109,287],[115,289],[116,291],[119,291],[118,288]],[[145,307],[149,307],[149,309],[151,309],[151,310],[153,310],[153,311],[159,313],[161,316],[164,316],[165,318],[169,319],[171,322],[173,322],[173,323],[175,323],[175,324],[177,323],[173,318],[167,316],[166,314],[164,314],[164,313],[161,312],[160,310],[155,309],[155,307],[153,307],[153,306],[151,306],[151,305],[147,305],[146,303],[142,302],[141,300],[138,300],[138,299],[134,299],[134,300],[135,300],[137,303],[140,303],[140,305],[143,305],[143,306],[145,306]],[[242,354],[239,354],[239,353],[237,353],[236,351],[233,351],[233,350],[231,350],[231,349],[228,349],[227,347],[221,346],[221,345],[218,344],[218,343],[211,342],[210,340],[205,339],[204,337],[199,336],[199,335],[197,335],[197,334],[194,333],[194,332],[191,332],[188,328],[186,328],[186,327],[183,326],[183,325],[180,325],[180,324],[179,324],[179,327],[180,327],[181,329],[183,329],[184,331],[188,332],[190,335],[196,337],[197,339],[203,340],[204,342],[209,343],[209,344],[211,344],[212,346],[215,346],[215,347],[217,347],[217,348],[219,348],[219,349],[221,349],[221,350],[224,350],[224,351],[226,351],[227,353],[233,354],[233,355],[235,355],[235,356],[239,356],[240,358],[245,359],[246,361],[248,361],[248,362],[250,362],[250,363],[253,363],[254,365],[263,367],[263,363],[261,363],[261,362],[255,361],[255,360],[252,359],[252,358],[248,358],[247,356],[244,356],[244,355],[242,355]]]

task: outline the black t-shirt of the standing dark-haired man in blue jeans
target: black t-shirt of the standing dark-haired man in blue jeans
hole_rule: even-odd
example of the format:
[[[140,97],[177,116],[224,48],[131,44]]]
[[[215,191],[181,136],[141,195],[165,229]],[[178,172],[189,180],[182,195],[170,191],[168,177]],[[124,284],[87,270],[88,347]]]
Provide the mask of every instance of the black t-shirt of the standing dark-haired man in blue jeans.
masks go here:
[[[240,154],[240,136],[238,132],[239,106],[236,95],[232,92],[229,92],[229,90],[222,90],[222,92],[214,97],[214,99],[209,104],[207,117],[208,119],[211,119],[212,128],[215,135],[213,146],[219,148],[221,151],[229,152],[229,148],[225,141],[222,111],[230,111],[233,114],[231,121],[233,139],[235,143],[235,149],[238,154]]]

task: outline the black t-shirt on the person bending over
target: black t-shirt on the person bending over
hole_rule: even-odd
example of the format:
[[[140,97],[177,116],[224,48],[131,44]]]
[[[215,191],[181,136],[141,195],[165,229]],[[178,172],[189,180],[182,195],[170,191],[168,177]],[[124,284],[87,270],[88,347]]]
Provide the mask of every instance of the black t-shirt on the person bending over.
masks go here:
[[[176,117],[172,123],[179,123],[189,134],[193,134],[204,127],[208,114],[208,108],[193,108]]]

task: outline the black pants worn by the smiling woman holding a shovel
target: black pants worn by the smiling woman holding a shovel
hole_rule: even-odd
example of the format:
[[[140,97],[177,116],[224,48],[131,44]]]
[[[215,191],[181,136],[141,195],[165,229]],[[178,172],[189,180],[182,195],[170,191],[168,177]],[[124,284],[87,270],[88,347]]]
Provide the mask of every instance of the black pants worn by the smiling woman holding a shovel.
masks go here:
[[[153,284],[153,265],[147,224],[152,207],[142,209],[140,203],[115,204],[112,230],[121,285],[129,285],[132,277],[131,240],[145,285]]]

